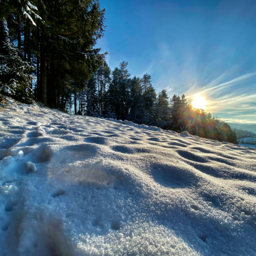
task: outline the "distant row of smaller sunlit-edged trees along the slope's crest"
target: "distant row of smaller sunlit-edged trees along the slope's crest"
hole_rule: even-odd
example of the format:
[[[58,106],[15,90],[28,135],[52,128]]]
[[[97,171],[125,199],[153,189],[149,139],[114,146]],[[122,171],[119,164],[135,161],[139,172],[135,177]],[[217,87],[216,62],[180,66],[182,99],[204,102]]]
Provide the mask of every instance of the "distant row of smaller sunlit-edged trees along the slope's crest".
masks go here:
[[[236,133],[227,123],[202,109],[194,109],[184,94],[169,99],[166,90],[162,90],[157,95],[151,76],[131,77],[124,61],[113,71],[104,62],[84,89],[74,95],[70,112],[73,105],[75,114],[126,119],[164,130],[188,131],[203,138],[237,143]]]

